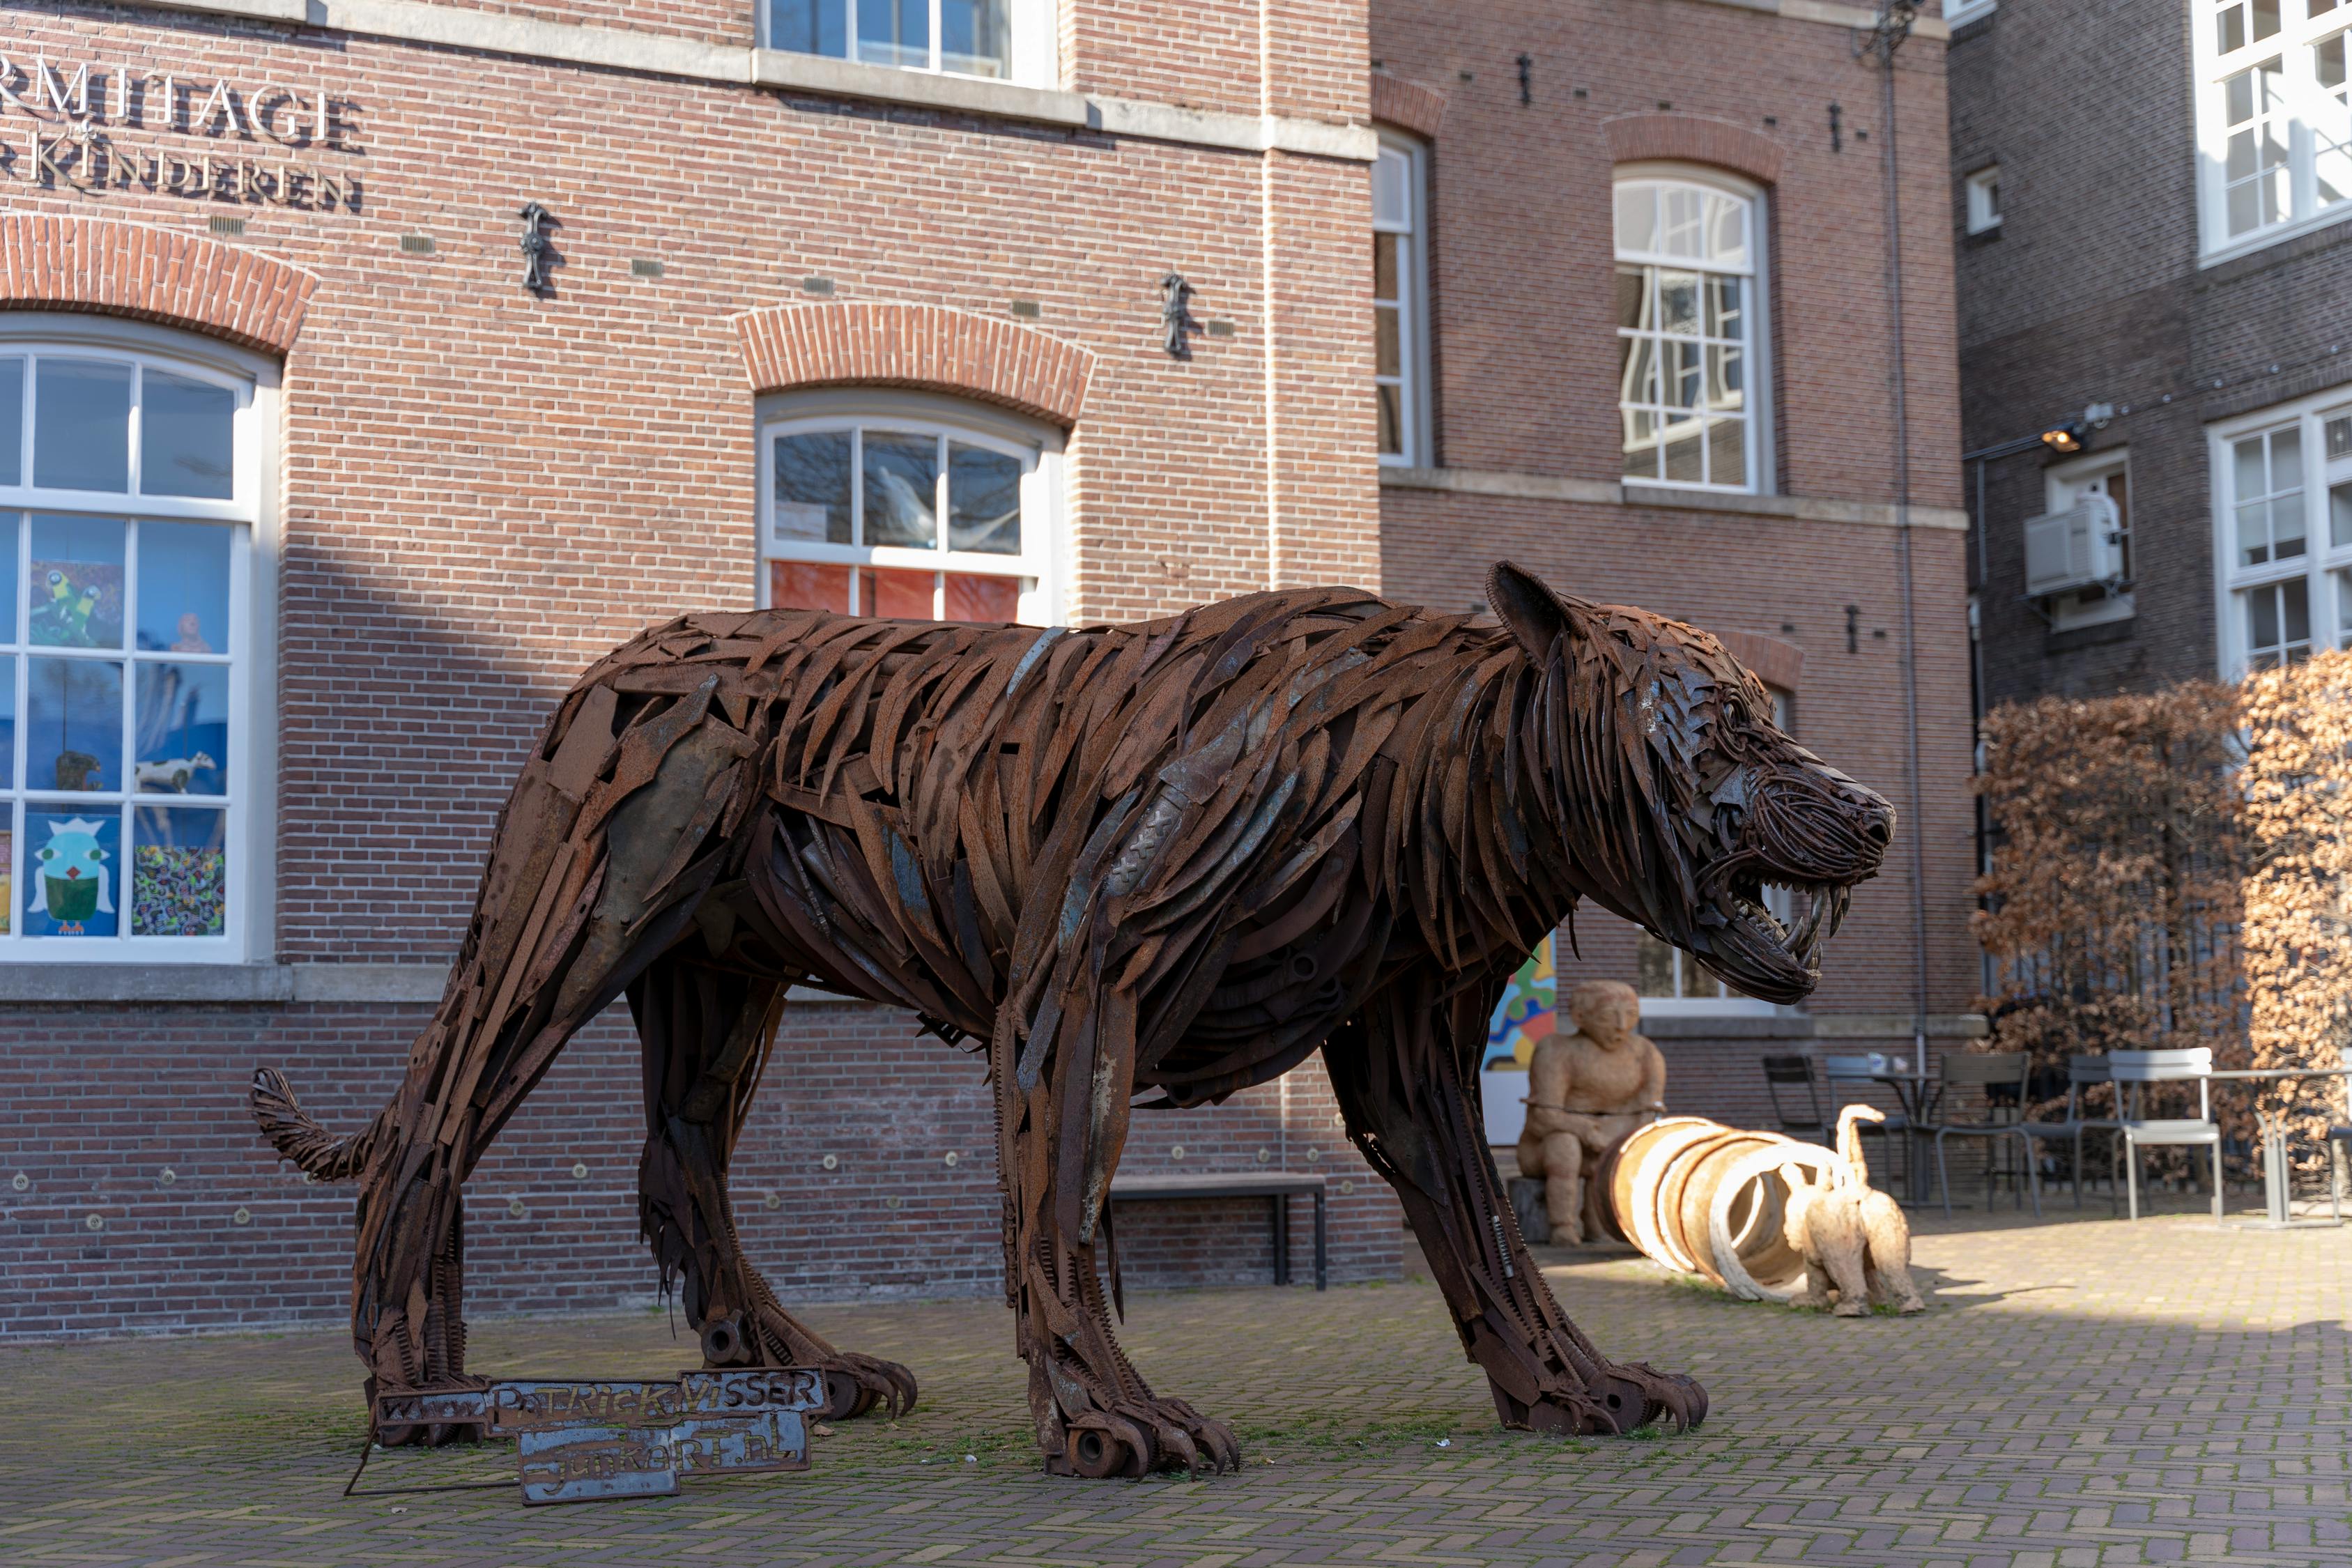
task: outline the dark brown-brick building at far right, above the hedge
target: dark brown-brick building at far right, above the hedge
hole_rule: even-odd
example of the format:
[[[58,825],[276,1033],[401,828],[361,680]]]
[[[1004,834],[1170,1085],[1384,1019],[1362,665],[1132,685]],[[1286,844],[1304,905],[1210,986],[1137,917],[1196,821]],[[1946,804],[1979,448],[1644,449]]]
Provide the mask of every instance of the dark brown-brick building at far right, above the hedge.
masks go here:
[[[2305,0],[1980,2],[1955,21],[1962,444],[1992,454],[1971,541],[1987,705],[2343,644],[2347,24]],[[2034,440],[2067,425],[2074,451]],[[2030,578],[2027,524],[2100,494],[2117,545]]]

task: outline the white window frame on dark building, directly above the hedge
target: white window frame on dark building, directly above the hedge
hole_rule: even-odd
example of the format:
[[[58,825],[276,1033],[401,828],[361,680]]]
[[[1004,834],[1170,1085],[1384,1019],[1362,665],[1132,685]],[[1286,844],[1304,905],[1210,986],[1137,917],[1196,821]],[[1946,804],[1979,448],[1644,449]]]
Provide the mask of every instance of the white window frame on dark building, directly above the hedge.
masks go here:
[[[2352,390],[2347,388],[2256,409],[2253,414],[2206,428],[2206,465],[2211,468],[2213,503],[2213,625],[2218,632],[2213,637],[2213,663],[2225,682],[2239,679],[2249,668],[2249,616],[2244,599],[2249,588],[2303,578],[2307,583],[2312,651],[2345,646],[2340,628],[2345,628],[2352,604],[2338,595],[2352,585],[2338,578],[2336,571],[2352,569],[2352,524],[2347,524],[2347,543],[2331,543],[2328,491],[2331,487],[2347,487],[2347,505],[2352,505],[2352,449],[2328,461],[2326,428],[2338,418],[2352,421]],[[2284,562],[2270,559],[2258,567],[2239,567],[2232,442],[2288,425],[2298,425],[2303,437],[2303,555]],[[2352,437],[2352,423],[2347,423],[2345,435]]]

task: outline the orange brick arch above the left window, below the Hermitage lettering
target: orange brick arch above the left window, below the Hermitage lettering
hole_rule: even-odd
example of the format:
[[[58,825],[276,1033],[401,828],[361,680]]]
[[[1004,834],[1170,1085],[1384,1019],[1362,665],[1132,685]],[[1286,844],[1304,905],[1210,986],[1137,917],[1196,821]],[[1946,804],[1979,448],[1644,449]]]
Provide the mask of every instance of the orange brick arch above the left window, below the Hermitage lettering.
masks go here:
[[[47,214],[0,216],[0,310],[92,310],[287,353],[318,275],[219,240]]]

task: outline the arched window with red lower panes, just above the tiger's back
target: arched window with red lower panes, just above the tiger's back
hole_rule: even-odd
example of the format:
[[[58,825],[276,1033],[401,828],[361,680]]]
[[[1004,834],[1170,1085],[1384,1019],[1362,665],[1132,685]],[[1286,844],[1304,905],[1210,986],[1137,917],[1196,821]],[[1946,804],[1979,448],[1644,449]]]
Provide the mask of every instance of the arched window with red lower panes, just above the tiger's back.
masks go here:
[[[922,393],[760,404],[760,602],[894,621],[1061,614],[1061,433]]]

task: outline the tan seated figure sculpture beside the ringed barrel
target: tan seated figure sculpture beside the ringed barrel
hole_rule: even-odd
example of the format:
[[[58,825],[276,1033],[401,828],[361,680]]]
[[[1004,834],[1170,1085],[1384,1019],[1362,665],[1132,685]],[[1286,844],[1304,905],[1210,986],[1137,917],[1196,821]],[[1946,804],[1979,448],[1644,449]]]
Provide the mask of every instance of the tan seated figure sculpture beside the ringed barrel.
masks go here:
[[[1621,980],[1569,992],[1571,1034],[1552,1034],[1526,1065],[1519,1175],[1543,1182],[1552,1241],[1585,1239],[1585,1168],[1665,1110],[1665,1058],[1635,1034],[1642,999]]]

